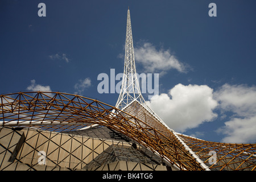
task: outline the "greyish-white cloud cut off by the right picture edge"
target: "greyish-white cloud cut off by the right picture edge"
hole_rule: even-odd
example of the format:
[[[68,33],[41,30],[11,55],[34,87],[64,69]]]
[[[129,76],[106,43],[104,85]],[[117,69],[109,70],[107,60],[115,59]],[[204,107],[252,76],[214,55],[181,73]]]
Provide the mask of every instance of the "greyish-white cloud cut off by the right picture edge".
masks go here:
[[[217,131],[225,134],[222,142],[249,143],[256,142],[256,86],[222,85],[214,93],[220,102],[220,109],[233,115],[225,126]]]

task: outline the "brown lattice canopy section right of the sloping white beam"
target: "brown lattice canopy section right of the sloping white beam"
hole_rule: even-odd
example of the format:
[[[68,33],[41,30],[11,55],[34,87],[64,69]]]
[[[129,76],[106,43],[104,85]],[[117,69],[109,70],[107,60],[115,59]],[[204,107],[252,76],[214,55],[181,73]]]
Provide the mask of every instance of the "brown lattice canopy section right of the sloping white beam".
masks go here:
[[[216,171],[255,171],[256,143],[220,143],[209,142],[187,135],[178,134],[210,170]],[[209,153],[216,156],[213,162]]]

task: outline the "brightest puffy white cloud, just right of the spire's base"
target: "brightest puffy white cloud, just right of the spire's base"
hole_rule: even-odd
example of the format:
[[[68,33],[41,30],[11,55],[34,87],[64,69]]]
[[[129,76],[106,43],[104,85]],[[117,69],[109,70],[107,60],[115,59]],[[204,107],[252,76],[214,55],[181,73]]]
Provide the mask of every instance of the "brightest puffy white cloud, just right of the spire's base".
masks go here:
[[[169,93],[171,98],[160,94],[153,96],[147,104],[171,129],[184,132],[217,117],[213,113],[217,101],[209,86],[177,84]]]

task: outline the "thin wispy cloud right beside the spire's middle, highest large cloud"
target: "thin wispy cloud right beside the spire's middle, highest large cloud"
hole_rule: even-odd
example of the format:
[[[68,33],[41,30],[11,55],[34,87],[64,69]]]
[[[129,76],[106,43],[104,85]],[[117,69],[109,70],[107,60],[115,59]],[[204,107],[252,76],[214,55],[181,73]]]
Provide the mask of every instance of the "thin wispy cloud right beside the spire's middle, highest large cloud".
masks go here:
[[[134,49],[134,54],[135,60],[143,65],[145,72],[159,72],[160,75],[170,69],[187,72],[186,66],[177,60],[169,49],[156,50],[151,43],[144,43],[143,46]]]

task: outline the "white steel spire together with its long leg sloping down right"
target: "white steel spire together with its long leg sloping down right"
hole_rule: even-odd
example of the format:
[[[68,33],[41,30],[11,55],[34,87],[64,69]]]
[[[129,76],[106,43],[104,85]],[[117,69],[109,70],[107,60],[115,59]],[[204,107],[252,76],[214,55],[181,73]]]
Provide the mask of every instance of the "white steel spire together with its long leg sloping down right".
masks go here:
[[[184,147],[189,152],[189,154],[192,155],[192,158],[194,158],[203,169],[209,170],[209,168],[203,163],[203,161],[200,160],[200,158],[191,150],[191,148],[187,146],[187,144],[183,142],[183,140],[181,140],[181,138],[175,133],[175,131],[170,129],[170,127],[168,127],[166,123],[164,123],[162,119],[158,117],[158,115],[156,115],[156,113],[154,113],[154,111],[152,111],[150,107],[147,106],[142,96],[135,67],[133,35],[131,32],[131,17],[129,8],[127,10],[126,24],[125,67],[123,71],[121,92],[119,94],[119,98],[115,107],[124,111],[133,110],[133,115],[142,120],[145,120],[145,118],[141,117],[141,115],[138,114],[140,111],[141,113],[143,113],[143,115],[151,114],[155,120],[153,122],[159,122],[164,125],[166,129],[172,133],[175,139],[180,141],[180,145]],[[134,110],[137,110],[137,112],[134,113]]]

